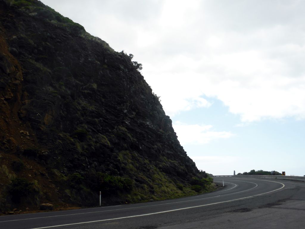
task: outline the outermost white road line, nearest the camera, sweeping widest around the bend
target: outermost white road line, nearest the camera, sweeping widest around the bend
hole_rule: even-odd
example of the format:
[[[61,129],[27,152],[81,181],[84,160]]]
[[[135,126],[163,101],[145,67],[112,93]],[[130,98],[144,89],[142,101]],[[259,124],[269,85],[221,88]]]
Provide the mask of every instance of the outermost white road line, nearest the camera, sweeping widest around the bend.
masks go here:
[[[270,182],[282,184],[280,182],[271,181],[271,180],[270,180]],[[252,182],[250,182],[250,183],[252,183]],[[235,200],[242,200],[242,199],[252,198],[254,196],[264,195],[264,194],[267,194],[267,193],[270,193],[270,192],[278,191],[278,190],[282,189],[283,187],[285,187],[285,184],[282,184],[282,185],[283,185],[282,187],[280,187],[278,189],[275,189],[275,190],[272,190],[272,191],[269,191],[269,192],[265,192],[265,193],[261,193],[261,194],[257,194],[257,195],[253,195],[253,196],[247,196],[247,197],[243,197],[243,198],[238,198],[238,199],[233,199],[233,200],[227,200],[227,201],[222,201],[222,202],[211,203],[211,204],[204,204],[204,205],[198,205],[198,206],[192,206],[192,207],[186,207],[186,208],[178,208],[178,209],[173,209],[173,210],[167,210],[167,211],[155,212],[155,213],[148,213],[148,214],[136,215],[136,216],[125,216],[125,217],[119,217],[119,218],[113,218],[113,219],[95,220],[95,221],[73,223],[73,224],[62,224],[62,225],[48,226],[48,227],[36,227],[36,228],[31,228],[31,229],[44,229],[44,228],[63,227],[63,226],[70,226],[70,225],[77,225],[77,224],[90,224],[90,223],[103,222],[103,221],[109,221],[109,220],[120,220],[120,219],[134,218],[134,217],[139,217],[139,216],[150,216],[150,215],[156,215],[156,214],[161,214],[161,213],[180,211],[180,210],[185,210],[185,209],[199,208],[199,207],[203,207],[203,206],[221,204],[221,203],[226,203],[226,202],[232,202],[232,201],[235,201]]]

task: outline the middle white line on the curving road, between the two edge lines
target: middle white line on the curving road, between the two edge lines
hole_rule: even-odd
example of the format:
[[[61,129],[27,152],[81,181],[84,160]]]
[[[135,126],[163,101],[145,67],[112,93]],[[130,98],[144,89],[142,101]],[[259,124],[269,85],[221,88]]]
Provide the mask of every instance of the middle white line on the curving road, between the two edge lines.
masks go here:
[[[234,181],[234,180],[233,180]],[[239,182],[246,182],[246,183],[252,183],[252,184],[256,184],[253,182],[248,182],[248,181],[242,181],[242,180],[237,180]],[[230,182],[224,182],[224,183],[228,183],[228,184],[234,184],[234,183],[230,183]],[[237,186],[237,184],[235,184],[235,187]],[[256,188],[257,184],[255,187]],[[253,188],[244,190],[244,191],[249,191]],[[230,188],[231,189],[231,188]],[[230,189],[224,190],[224,191],[228,191]],[[239,191],[239,192],[244,192],[244,191]],[[222,191],[219,191],[222,192]],[[52,217],[60,217],[60,216],[74,216],[74,215],[82,215],[82,214],[90,214],[90,213],[99,213],[99,212],[111,212],[111,211],[118,211],[118,210],[126,210],[126,209],[134,209],[134,208],[144,208],[144,207],[150,207],[150,206],[158,206],[158,205],[167,205],[167,204],[176,204],[176,203],[182,203],[182,202],[191,202],[191,201],[195,201],[195,200],[204,200],[204,199],[209,199],[209,198],[214,198],[214,197],[219,197],[219,196],[225,196],[225,195],[231,195],[231,194],[235,194],[235,193],[239,193],[239,192],[233,192],[233,193],[229,193],[229,194],[224,194],[224,195],[218,195],[218,196],[211,196],[211,197],[205,197],[205,198],[199,198],[199,199],[193,199],[193,200],[183,200],[183,201],[177,201],[177,202],[170,202],[170,203],[163,203],[163,204],[154,204],[154,205],[145,205],[145,206],[138,206],[138,207],[132,207],[132,208],[121,208],[121,209],[112,209],[112,210],[105,210],[105,211],[95,211],[95,212],[84,212],[84,213],[74,213],[74,214],[66,214],[66,215],[56,215],[56,216],[43,216],[43,217],[34,217],[34,218],[26,218],[26,219],[20,219],[20,220],[5,220],[5,221],[0,221],[0,223],[4,223],[4,222],[12,222],[12,221],[21,221],[21,220],[34,220],[34,219],[42,219],[42,218],[52,218]],[[117,205],[117,206],[121,206],[121,205]]]

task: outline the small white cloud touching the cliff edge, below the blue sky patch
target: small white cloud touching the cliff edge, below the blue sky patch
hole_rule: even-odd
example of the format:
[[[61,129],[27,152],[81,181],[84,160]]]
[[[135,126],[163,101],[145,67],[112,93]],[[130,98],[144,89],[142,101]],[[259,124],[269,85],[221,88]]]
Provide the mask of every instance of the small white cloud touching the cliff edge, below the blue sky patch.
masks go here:
[[[181,122],[175,122],[173,128],[177,133],[181,145],[202,145],[213,140],[230,138],[233,136],[231,132],[214,131],[212,125],[187,125]]]

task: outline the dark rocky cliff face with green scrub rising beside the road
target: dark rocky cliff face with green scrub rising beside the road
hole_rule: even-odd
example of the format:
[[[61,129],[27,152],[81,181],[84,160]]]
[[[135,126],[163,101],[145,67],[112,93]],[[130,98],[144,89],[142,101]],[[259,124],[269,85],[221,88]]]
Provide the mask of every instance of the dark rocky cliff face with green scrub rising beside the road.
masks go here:
[[[105,191],[112,202],[194,193],[199,171],[129,56],[38,1],[0,0],[0,20],[0,163],[11,175],[0,182],[38,181],[36,204],[92,205],[80,200],[98,191],[92,177],[128,179],[128,191]]]

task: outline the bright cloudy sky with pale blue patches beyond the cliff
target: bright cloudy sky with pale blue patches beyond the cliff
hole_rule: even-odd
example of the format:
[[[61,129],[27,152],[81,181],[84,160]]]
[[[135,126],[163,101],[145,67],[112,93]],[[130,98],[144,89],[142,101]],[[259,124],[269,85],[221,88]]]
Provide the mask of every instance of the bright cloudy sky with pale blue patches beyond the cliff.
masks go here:
[[[42,2],[134,54],[198,169],[305,175],[305,1]]]

